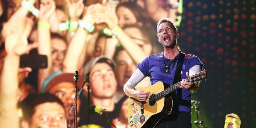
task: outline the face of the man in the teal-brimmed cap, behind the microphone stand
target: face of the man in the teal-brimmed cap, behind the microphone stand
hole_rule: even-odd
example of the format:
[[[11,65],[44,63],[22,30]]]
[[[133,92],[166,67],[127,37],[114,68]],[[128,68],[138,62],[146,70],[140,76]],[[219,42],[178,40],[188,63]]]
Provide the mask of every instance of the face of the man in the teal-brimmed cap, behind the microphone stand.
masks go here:
[[[66,109],[66,115],[68,115],[69,110],[73,106],[73,102],[75,99],[75,86],[74,84],[70,82],[61,82],[53,86],[51,90],[49,90],[49,93],[57,96],[64,104]],[[77,99],[77,111],[79,111],[80,108],[80,99]],[[70,117],[73,116],[73,111],[71,113]]]

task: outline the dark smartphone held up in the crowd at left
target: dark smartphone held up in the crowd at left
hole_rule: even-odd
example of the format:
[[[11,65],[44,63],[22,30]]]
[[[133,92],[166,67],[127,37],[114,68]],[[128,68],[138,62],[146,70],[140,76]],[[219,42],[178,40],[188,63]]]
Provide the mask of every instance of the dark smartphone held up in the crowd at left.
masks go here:
[[[20,68],[47,68],[47,56],[38,54],[24,54],[20,56]]]

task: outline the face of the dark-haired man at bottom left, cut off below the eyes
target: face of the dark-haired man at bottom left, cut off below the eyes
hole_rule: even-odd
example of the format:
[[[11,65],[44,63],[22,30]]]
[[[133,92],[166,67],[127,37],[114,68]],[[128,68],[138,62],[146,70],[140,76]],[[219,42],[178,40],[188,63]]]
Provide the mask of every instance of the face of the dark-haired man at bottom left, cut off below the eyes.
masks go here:
[[[46,125],[47,128],[65,128],[65,110],[55,102],[39,104],[35,107],[35,113],[31,118],[29,128]]]

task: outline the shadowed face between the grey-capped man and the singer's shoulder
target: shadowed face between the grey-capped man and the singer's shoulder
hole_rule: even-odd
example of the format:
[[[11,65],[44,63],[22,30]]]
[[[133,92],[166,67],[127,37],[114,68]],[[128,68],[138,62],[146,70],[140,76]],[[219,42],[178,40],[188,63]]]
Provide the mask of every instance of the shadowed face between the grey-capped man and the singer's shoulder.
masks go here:
[[[115,61],[117,83],[119,88],[122,89],[137,67],[125,50],[119,51]]]

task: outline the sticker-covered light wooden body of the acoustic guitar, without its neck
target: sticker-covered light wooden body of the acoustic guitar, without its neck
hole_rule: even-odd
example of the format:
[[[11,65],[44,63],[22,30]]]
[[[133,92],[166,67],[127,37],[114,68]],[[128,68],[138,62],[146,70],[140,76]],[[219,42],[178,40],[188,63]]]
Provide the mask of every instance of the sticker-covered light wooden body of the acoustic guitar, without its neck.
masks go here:
[[[164,89],[170,87],[170,84],[157,82],[150,87],[138,87],[136,90],[150,92],[148,99],[154,99]],[[130,128],[152,128],[157,122],[170,114],[172,111],[172,99],[162,97],[158,100],[148,100],[148,102],[139,102],[137,99],[128,100],[128,124]]]

